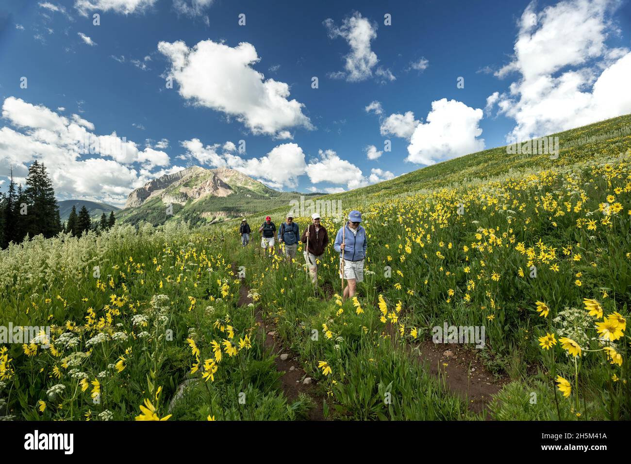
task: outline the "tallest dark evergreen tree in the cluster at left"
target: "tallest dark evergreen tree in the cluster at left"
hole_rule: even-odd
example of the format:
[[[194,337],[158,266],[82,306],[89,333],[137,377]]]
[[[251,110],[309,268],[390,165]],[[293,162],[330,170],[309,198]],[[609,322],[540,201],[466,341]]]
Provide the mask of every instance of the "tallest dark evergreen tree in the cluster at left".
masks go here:
[[[28,204],[28,234],[31,237],[44,234],[46,238],[57,235],[61,230],[59,206],[43,163],[35,160],[28,168],[24,193]]]

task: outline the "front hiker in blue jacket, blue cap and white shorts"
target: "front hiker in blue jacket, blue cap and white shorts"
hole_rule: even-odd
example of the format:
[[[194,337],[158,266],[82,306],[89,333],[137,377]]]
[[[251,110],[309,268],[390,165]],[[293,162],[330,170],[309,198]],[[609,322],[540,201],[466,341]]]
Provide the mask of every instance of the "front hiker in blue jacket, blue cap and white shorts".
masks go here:
[[[357,290],[357,282],[363,280],[363,260],[366,258],[368,246],[366,229],[362,222],[362,213],[353,210],[348,213],[348,222],[338,230],[333,247],[339,253],[339,277],[348,280],[348,287],[344,289],[343,299],[352,298]]]

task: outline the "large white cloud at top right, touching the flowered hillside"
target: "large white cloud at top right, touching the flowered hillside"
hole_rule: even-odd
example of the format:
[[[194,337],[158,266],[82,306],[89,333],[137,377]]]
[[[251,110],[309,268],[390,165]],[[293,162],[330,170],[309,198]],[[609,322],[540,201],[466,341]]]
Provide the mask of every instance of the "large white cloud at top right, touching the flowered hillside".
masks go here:
[[[617,0],[575,0],[541,11],[533,2],[524,10],[512,61],[495,73],[519,78],[498,98],[489,97],[516,121],[507,141],[631,112],[631,53],[606,45],[618,33],[611,15],[619,6]]]

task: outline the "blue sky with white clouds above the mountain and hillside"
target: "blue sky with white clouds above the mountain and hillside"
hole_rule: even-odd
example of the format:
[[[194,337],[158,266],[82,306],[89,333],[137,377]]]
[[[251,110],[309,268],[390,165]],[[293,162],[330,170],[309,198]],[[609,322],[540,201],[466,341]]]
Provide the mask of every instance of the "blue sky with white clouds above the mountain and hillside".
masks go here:
[[[0,1],[0,189],[35,158],[60,199],[114,205],[190,165],[373,184],[631,112],[630,32],[611,0]]]

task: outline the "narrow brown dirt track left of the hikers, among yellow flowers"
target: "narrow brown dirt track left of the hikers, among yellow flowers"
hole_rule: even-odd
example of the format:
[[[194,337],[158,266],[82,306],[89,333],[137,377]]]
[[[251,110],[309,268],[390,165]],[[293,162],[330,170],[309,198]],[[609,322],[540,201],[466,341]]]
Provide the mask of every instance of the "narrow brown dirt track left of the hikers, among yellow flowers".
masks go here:
[[[232,263],[232,272],[237,275],[235,271],[236,265]],[[241,287],[239,290],[239,302],[238,306],[247,306],[252,302],[252,299],[248,296],[250,290],[245,285],[245,278],[241,278]],[[314,402],[314,407],[309,410],[308,420],[324,420],[324,412],[322,409],[323,398],[320,395],[315,395],[313,384],[302,383],[307,378],[306,372],[300,367],[300,360],[290,350],[283,349],[280,341],[276,341],[276,325],[272,321],[266,321],[262,317],[261,307],[257,307],[254,315],[256,322],[259,326],[257,330],[257,338],[261,339],[266,351],[276,355],[274,358],[274,364],[276,364],[276,370],[283,372],[281,380],[281,388],[285,393],[289,402],[298,400],[298,395],[304,393],[309,395]],[[286,354],[285,360],[281,359],[281,355]]]

